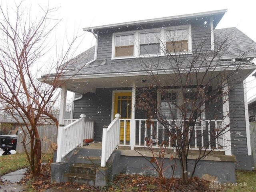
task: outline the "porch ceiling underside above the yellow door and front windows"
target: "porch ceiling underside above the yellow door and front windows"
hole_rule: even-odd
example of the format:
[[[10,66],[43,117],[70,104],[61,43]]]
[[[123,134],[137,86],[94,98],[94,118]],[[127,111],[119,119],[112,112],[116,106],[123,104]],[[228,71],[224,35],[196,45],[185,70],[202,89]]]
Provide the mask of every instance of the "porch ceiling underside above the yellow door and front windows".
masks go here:
[[[254,68],[247,68],[243,70],[238,70],[236,75],[232,76],[229,81],[239,78],[240,80],[244,80],[249,74],[254,71]],[[234,69],[236,70],[236,69]],[[228,70],[228,73],[231,73],[234,70]],[[217,84],[219,78],[215,78],[220,71],[208,72],[207,77],[205,77],[204,83]],[[201,72],[203,75],[204,72]],[[186,73],[184,73],[184,77]],[[158,74],[158,80],[164,85],[172,85],[175,80],[176,75],[173,73],[167,74]],[[145,81],[146,80],[146,81]],[[196,78],[191,80],[191,83],[195,83]],[[96,88],[124,88],[124,87],[132,87],[133,82],[136,83],[137,87],[149,86],[149,84],[153,81],[152,75],[141,75],[137,74],[134,76],[112,76],[112,77],[94,77],[94,78],[77,78],[77,79],[69,79],[66,80],[65,85],[69,91],[77,92],[80,94],[84,94],[86,92],[95,92]],[[177,82],[176,82],[177,85]]]

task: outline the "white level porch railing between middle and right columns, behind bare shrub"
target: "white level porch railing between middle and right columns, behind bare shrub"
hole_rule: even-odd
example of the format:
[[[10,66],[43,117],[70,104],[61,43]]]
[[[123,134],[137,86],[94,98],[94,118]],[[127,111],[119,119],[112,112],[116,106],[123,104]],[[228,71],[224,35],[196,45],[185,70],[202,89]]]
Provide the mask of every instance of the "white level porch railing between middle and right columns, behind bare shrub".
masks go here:
[[[176,134],[176,130],[172,129],[176,124],[180,127],[180,131],[183,131],[182,121],[167,120],[170,124],[169,131],[166,130],[158,120],[151,120],[153,123],[149,124],[147,127],[146,119],[135,119],[136,122],[136,139],[135,147],[147,146],[147,142],[152,141],[155,144],[153,147],[157,148],[157,144],[161,144],[162,141],[168,141],[167,148],[172,148],[172,143],[177,144],[177,140],[173,140],[170,136],[170,132]],[[204,120],[201,123],[197,123],[194,130],[189,130],[190,137],[190,148],[193,150],[199,150],[201,148],[206,148],[206,150],[220,150],[224,151],[226,149],[224,140],[224,131],[222,135],[215,138],[215,135],[222,129],[223,120]],[[208,145],[210,143],[210,145]]]

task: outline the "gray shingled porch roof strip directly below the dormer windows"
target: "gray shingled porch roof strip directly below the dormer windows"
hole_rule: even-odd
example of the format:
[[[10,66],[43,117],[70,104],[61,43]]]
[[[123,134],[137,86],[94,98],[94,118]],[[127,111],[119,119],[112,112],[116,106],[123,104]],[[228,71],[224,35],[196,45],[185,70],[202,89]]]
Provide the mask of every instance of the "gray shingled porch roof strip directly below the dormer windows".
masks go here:
[[[102,63],[104,60],[97,60],[96,62]],[[180,68],[190,68],[191,62],[187,58],[181,58],[178,62]],[[234,62],[232,61],[220,61],[214,60],[210,63],[209,60],[202,60],[194,62],[195,67],[199,66],[230,66]],[[250,62],[243,62],[243,64],[252,64]],[[127,73],[127,72],[145,72],[148,70],[172,70],[176,67],[174,60],[169,60],[166,57],[158,58],[139,58],[131,59],[126,61],[120,61],[104,65],[88,66],[79,70],[70,70],[62,74],[62,76],[73,76],[73,75],[90,75],[90,74],[113,74],[113,73]]]

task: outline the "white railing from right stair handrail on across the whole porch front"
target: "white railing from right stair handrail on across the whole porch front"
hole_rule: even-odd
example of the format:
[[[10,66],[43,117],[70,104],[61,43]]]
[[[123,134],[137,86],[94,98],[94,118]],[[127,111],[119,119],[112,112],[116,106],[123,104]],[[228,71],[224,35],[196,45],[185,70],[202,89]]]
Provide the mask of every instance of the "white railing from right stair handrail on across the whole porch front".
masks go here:
[[[127,130],[134,130],[130,126],[132,125],[131,119],[121,119],[119,114],[116,114],[116,118],[111,122],[111,124],[103,128],[102,135],[102,158],[101,166],[104,167],[108,158],[111,156],[112,152],[115,150],[116,146],[127,146],[127,147],[146,147],[148,141],[153,141],[153,148],[158,148],[158,145],[162,141],[166,142],[167,148],[172,148],[173,142],[177,145],[177,140],[171,138],[171,133],[176,134],[176,130],[172,129],[175,124],[180,127],[180,131],[183,131],[182,121],[181,120],[167,120],[170,124],[169,131],[166,130],[158,120],[151,120],[153,123],[147,125],[146,119],[135,119],[135,143],[130,143],[130,136]],[[150,126],[150,127],[147,127]],[[122,138],[120,138],[120,130],[122,128]],[[219,131],[224,128],[223,120],[204,120],[196,124],[194,130],[189,130],[190,138],[190,149],[192,150],[218,150],[225,151],[228,150],[226,146],[227,141],[224,139],[225,132],[215,137],[219,134]],[[146,139],[147,138],[147,139]]]

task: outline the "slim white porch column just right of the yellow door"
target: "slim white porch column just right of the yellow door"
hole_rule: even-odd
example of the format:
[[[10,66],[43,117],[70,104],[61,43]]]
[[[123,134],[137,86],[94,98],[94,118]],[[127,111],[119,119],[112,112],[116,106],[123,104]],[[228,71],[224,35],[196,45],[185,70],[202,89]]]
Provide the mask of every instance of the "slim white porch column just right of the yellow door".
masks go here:
[[[132,82],[132,116],[130,122],[130,146],[134,150],[136,138],[136,122],[135,122],[135,97],[136,97],[136,82]]]

